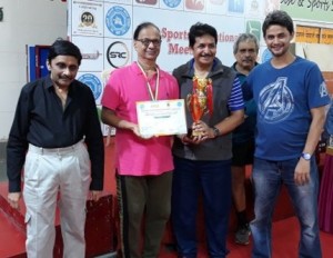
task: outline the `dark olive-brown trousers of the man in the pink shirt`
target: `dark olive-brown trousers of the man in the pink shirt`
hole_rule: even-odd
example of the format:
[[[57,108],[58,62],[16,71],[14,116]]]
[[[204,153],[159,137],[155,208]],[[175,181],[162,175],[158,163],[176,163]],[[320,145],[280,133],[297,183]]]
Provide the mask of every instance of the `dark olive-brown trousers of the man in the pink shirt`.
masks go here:
[[[172,172],[117,179],[122,257],[157,258],[170,217]]]

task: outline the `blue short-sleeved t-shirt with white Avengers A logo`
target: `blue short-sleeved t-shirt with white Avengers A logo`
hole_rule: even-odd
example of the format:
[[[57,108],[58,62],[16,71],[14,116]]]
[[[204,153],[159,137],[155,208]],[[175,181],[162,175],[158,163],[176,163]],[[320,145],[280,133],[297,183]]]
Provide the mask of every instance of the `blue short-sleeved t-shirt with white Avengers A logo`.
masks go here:
[[[244,98],[253,97],[258,107],[254,156],[273,161],[300,157],[311,109],[330,102],[319,67],[300,57],[281,69],[264,62],[248,76],[245,88]]]

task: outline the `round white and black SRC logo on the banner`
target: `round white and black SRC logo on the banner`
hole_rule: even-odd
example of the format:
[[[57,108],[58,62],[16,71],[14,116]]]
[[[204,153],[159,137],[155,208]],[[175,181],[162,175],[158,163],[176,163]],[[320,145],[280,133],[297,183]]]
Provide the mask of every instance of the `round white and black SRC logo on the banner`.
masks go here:
[[[107,50],[107,59],[111,67],[120,68],[128,64],[130,51],[124,42],[115,41]]]

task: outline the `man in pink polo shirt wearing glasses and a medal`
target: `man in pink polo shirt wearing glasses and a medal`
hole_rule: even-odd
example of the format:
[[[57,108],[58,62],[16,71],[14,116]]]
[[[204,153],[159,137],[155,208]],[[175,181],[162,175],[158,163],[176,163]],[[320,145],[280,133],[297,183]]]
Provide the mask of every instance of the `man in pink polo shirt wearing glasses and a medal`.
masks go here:
[[[138,101],[179,99],[179,87],[176,80],[157,64],[161,46],[159,28],[151,22],[139,24],[133,41],[138,61],[114,70],[110,76],[102,97],[102,121],[117,128],[115,169],[122,256],[154,258],[159,255],[170,215],[172,137],[142,136],[135,105]]]

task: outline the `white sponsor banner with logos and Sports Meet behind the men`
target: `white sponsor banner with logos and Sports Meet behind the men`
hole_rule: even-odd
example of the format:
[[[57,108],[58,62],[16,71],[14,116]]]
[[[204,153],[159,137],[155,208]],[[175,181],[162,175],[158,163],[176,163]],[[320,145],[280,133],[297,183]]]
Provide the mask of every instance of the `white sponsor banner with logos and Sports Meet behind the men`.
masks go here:
[[[225,66],[234,62],[233,44],[242,32],[251,32],[263,44],[261,26],[268,8],[264,0],[71,0],[68,2],[68,36],[82,51],[79,80],[89,85],[97,105],[112,70],[137,60],[133,32],[144,21],[161,30],[159,66],[171,72],[192,58],[189,30],[196,22],[218,31],[216,57]],[[104,135],[110,130],[104,128]]]

